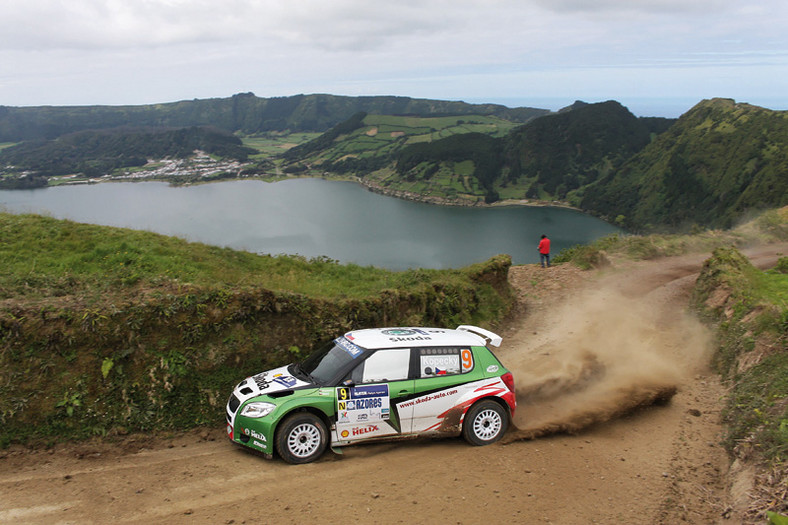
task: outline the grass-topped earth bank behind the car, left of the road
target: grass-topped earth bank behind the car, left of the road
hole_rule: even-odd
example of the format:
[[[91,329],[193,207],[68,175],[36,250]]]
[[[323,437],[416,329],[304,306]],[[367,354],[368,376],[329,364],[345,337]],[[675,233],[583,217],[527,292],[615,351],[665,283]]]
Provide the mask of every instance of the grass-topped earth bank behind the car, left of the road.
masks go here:
[[[243,377],[351,329],[493,327],[511,259],[389,272],[0,214],[0,445],[215,426]]]

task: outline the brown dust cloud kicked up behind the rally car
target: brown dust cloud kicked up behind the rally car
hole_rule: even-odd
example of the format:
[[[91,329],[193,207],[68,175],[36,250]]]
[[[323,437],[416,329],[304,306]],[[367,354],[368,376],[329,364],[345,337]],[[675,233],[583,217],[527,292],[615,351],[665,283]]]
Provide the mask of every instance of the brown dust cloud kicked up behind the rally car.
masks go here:
[[[541,323],[506,359],[518,403],[507,442],[666,403],[711,351],[709,332],[675,301],[633,297],[620,283],[576,294]]]

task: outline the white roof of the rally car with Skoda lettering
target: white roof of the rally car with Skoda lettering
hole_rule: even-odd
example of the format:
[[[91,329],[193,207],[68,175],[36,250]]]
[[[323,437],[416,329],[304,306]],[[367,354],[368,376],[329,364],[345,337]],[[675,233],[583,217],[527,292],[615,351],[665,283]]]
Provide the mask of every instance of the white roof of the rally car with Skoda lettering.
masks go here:
[[[473,331],[471,331],[473,330]],[[486,336],[491,344],[500,345],[501,338],[487,330],[463,325],[457,329],[394,327],[367,328],[345,334],[345,338],[361,348],[411,348],[419,346],[485,346]],[[497,343],[497,344],[496,344]]]

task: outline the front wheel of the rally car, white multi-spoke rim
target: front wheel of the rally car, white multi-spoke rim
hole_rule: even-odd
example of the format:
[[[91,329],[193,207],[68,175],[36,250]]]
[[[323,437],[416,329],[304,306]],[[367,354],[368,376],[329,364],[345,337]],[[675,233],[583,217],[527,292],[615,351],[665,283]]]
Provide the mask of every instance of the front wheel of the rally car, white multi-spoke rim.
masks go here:
[[[276,451],[291,464],[309,463],[323,455],[328,431],[323,420],[309,412],[287,416],[276,432]]]

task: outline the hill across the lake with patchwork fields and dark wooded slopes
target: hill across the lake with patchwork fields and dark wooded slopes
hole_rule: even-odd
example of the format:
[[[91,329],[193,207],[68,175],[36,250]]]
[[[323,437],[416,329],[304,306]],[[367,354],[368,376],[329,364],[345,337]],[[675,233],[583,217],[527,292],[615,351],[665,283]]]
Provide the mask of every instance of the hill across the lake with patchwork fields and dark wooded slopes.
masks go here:
[[[519,127],[489,116],[424,118],[410,122],[412,127],[382,128],[383,137],[377,128],[369,136],[369,117],[362,119],[293,148],[285,158],[329,173],[351,173],[383,192],[438,202],[576,203],[574,190],[620,166],[673,122],[637,118],[614,101],[578,102]],[[388,135],[394,130],[404,130],[397,140]]]

